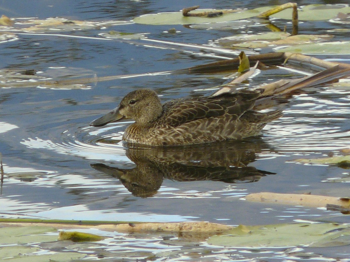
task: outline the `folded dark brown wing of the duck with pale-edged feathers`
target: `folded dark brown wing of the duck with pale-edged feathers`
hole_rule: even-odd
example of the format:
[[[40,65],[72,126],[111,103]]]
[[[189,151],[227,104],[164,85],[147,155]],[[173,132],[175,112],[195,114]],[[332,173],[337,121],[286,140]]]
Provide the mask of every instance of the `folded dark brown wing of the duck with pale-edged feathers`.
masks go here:
[[[199,99],[176,99],[163,104],[158,124],[172,127],[198,119],[232,115],[239,118],[253,108],[258,90],[240,90]]]

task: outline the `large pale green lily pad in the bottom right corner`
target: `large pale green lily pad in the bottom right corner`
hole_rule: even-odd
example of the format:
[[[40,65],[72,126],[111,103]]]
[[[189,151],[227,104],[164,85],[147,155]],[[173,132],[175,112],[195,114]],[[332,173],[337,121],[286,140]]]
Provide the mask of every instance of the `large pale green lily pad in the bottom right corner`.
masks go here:
[[[228,231],[226,235],[211,236],[208,243],[230,247],[287,247],[310,245],[318,247],[348,245],[349,225],[339,224],[275,224],[263,226],[240,225]]]

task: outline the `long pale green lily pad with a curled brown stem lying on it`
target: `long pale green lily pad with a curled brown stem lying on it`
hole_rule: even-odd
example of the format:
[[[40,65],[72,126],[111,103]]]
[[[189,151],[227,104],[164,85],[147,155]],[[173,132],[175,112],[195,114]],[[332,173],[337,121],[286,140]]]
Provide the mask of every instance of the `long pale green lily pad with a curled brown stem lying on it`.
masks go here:
[[[196,9],[191,13],[199,12],[220,12],[218,9]],[[216,17],[183,16],[182,12],[166,12],[158,14],[146,14],[135,17],[133,21],[138,24],[200,24],[212,22],[227,22],[246,19],[257,16],[260,13],[257,9],[241,10],[236,13],[223,14]]]

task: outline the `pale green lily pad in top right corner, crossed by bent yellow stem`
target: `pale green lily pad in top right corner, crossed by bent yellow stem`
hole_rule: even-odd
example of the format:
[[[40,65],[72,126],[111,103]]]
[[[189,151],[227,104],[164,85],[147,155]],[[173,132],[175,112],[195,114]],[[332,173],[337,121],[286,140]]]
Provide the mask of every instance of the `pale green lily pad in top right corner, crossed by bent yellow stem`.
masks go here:
[[[265,12],[271,7],[256,8],[260,12]],[[350,7],[347,5],[307,5],[298,8],[299,20],[317,21],[329,20],[338,15],[338,13],[349,13]],[[274,18],[292,19],[292,8],[285,9],[279,13],[271,15]]]

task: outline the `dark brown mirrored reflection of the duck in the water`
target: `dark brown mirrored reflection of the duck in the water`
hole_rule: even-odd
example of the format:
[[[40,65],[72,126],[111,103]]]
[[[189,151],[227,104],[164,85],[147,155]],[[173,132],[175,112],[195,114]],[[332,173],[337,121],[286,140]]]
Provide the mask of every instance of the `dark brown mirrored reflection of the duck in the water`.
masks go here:
[[[275,174],[247,166],[267,147],[258,138],[183,147],[131,147],[126,149],[126,156],[136,167],[125,169],[102,163],[91,167],[118,178],[134,196],[146,198],[158,191],[165,178],[179,182],[247,183]]]

